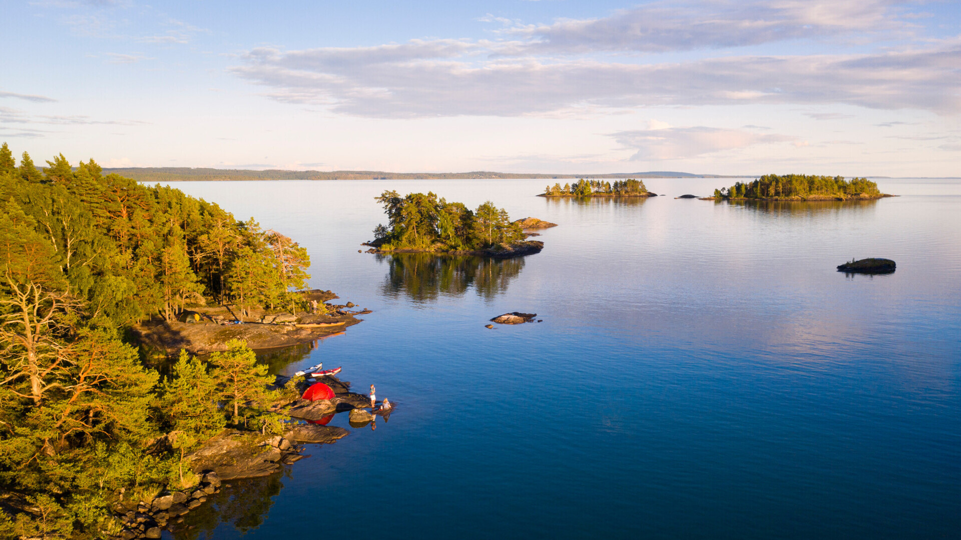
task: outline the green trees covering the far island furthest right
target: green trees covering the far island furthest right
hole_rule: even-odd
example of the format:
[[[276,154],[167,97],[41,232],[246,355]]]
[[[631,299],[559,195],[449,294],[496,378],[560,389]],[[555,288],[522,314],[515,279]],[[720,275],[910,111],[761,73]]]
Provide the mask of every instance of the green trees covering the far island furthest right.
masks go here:
[[[864,178],[846,181],[844,177],[769,174],[750,183],[714,190],[715,199],[807,199],[878,198],[877,184]]]

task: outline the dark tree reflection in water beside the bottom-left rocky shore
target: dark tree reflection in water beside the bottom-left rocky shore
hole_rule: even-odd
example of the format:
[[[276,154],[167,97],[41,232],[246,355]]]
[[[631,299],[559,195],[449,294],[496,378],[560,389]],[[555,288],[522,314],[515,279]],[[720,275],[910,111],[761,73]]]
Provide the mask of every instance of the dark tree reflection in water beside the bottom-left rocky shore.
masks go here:
[[[284,474],[289,474],[289,470]],[[230,524],[241,534],[259,528],[267,517],[273,498],[283,488],[280,474],[259,479],[230,480],[230,487],[209,497],[207,503],[190,510],[184,523],[173,533],[175,540],[207,540],[215,538],[220,524]]]

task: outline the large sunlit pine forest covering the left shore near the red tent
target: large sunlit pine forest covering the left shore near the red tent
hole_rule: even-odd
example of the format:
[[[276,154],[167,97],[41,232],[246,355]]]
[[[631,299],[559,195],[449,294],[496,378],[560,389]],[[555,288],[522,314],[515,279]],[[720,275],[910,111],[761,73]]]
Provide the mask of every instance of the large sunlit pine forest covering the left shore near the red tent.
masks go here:
[[[290,238],[177,189],[0,148],[0,538],[116,533],[115,504],[197,481],[185,453],[225,427],[273,432],[243,342],[146,368],[126,329],[188,304],[292,306]]]

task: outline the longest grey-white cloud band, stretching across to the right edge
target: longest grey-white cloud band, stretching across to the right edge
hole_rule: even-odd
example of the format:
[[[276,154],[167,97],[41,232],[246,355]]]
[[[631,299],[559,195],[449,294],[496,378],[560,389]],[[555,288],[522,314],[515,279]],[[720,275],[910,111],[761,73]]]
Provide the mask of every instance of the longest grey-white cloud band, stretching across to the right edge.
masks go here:
[[[489,43],[283,52],[255,49],[231,70],[294,103],[371,117],[517,116],[593,105],[847,104],[961,111],[961,45],[860,55],[740,56],[687,62],[480,58]]]

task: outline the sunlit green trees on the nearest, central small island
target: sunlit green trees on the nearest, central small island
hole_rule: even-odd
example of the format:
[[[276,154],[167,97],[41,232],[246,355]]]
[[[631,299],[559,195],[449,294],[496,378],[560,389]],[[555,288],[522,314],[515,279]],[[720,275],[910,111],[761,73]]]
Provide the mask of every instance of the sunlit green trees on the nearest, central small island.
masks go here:
[[[433,193],[384,191],[377,197],[387,214],[388,225],[374,229],[375,245],[382,251],[472,251],[507,249],[527,235],[511,223],[505,209],[490,201],[476,210],[462,203],[448,203]]]

